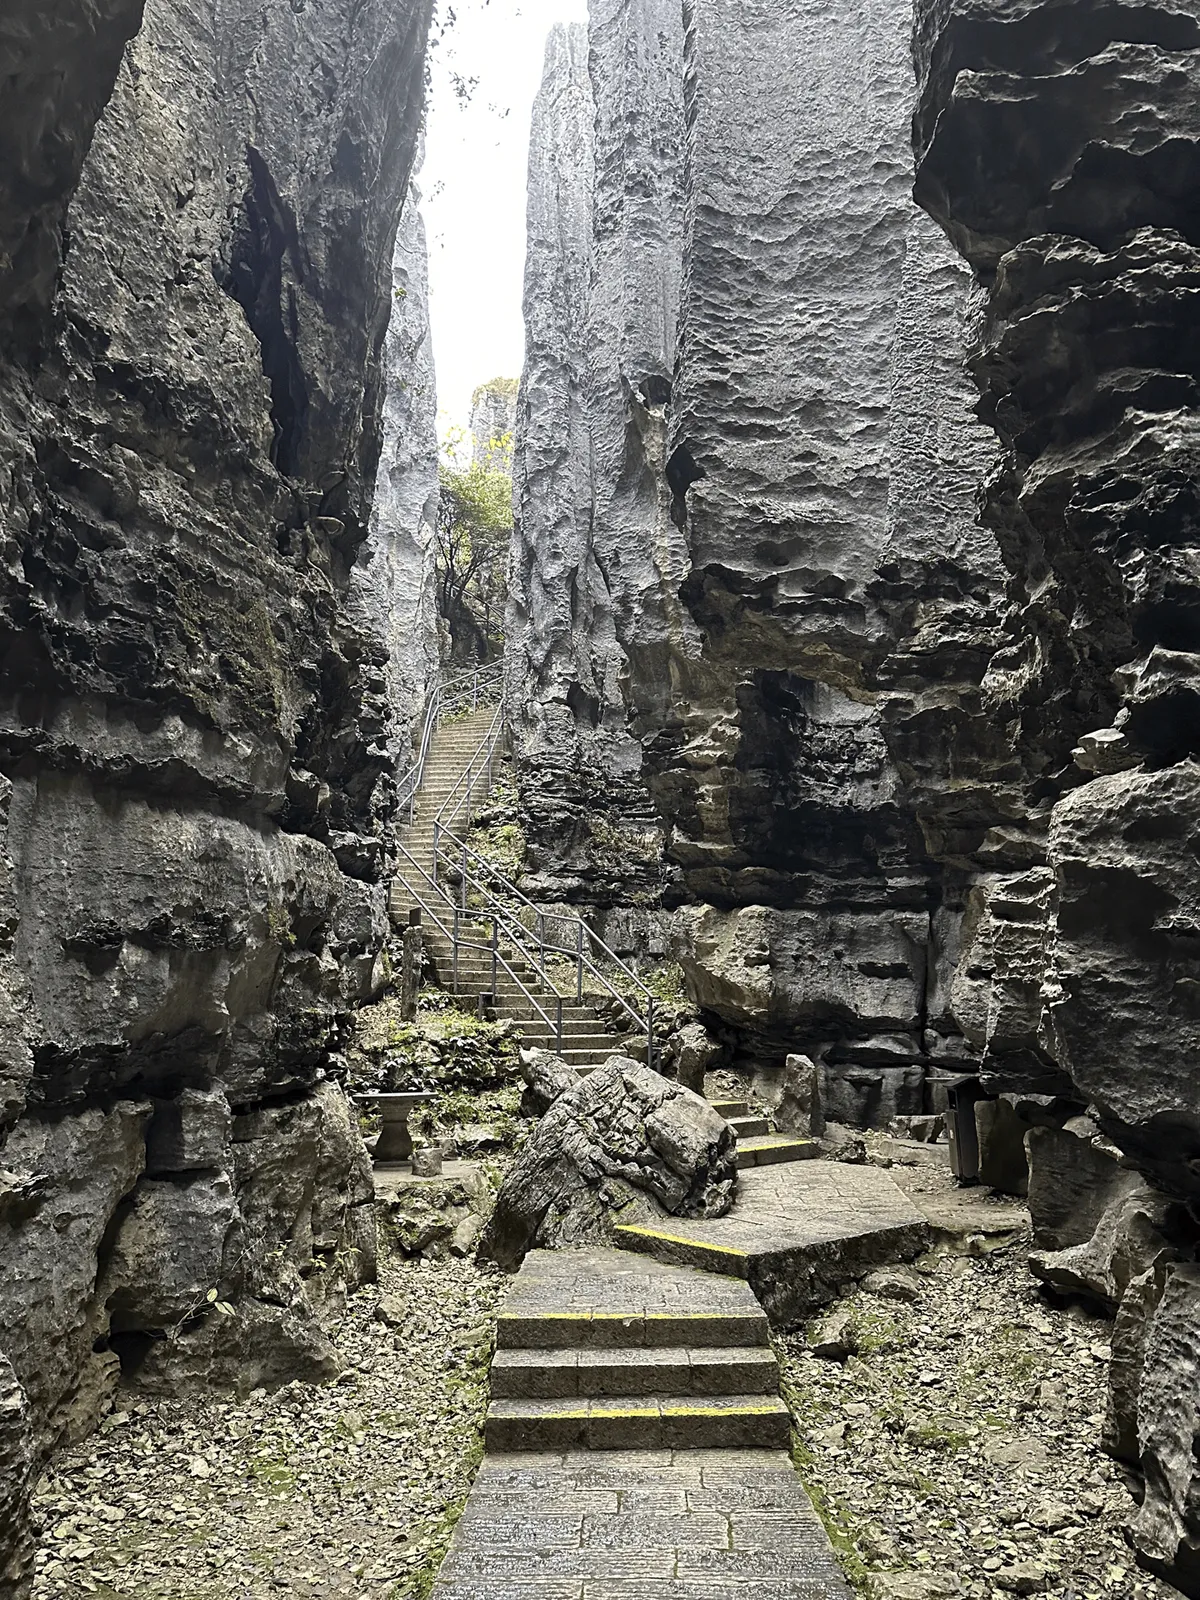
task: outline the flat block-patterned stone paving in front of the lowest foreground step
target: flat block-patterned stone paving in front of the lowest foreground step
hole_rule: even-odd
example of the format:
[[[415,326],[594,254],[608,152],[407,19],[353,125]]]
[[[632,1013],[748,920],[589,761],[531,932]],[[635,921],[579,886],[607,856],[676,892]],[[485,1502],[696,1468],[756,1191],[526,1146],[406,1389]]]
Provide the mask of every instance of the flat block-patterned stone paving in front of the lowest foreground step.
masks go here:
[[[432,1600],[851,1600],[779,1450],[488,1454]]]

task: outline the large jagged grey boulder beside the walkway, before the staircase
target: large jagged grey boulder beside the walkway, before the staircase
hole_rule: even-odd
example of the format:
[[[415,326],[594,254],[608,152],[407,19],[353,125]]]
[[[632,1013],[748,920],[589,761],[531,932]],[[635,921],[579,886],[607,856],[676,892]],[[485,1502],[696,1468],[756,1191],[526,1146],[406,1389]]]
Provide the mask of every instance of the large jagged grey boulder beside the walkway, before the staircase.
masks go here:
[[[610,1056],[534,1128],[501,1184],[480,1256],[515,1270],[534,1246],[602,1240],[630,1202],[659,1216],[723,1216],[736,1144],[691,1090]]]

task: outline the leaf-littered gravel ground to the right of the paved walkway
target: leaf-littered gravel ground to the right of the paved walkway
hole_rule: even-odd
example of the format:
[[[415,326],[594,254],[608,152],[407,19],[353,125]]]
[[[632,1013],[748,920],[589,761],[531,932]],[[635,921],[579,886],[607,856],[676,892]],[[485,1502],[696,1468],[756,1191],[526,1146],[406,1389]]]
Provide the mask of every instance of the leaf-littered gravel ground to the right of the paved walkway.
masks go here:
[[[851,1576],[877,1600],[1178,1600],[1136,1568],[1099,1448],[1110,1323],[1050,1306],[1021,1246],[922,1266],[890,1272],[912,1302],[838,1302],[845,1363],[781,1341],[800,1470]]]

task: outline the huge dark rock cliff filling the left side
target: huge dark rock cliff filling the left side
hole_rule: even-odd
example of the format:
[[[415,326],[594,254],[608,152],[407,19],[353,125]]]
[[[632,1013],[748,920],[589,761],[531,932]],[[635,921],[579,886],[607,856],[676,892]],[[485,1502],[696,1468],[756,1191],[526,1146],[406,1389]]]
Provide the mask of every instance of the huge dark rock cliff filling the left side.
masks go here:
[[[427,22],[0,21],[6,1594],[32,1472],[122,1370],[326,1373],[320,1299],[371,1267],[331,1069],[381,976],[402,696],[350,574]]]

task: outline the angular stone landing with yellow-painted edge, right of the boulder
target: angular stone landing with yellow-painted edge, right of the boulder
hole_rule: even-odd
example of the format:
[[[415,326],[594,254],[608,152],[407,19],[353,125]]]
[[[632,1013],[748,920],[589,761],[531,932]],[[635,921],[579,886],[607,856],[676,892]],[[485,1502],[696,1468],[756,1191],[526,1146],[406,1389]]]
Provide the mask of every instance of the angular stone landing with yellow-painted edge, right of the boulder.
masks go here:
[[[787,1162],[741,1173],[728,1216],[614,1230],[622,1250],[742,1278],[773,1326],[794,1326],[872,1267],[928,1248],[930,1221],[878,1166]]]

